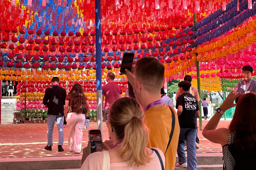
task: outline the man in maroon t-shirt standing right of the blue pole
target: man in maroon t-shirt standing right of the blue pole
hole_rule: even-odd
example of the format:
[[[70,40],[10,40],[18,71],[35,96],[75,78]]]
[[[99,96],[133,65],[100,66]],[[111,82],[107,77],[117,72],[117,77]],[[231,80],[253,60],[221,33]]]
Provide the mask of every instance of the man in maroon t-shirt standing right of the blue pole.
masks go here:
[[[115,82],[115,74],[108,73],[106,77],[106,81],[108,84],[102,86],[102,101],[104,101],[104,96],[106,97],[103,117],[106,121],[107,114],[109,113],[109,108],[112,103],[114,103],[117,99],[122,97],[122,89]]]

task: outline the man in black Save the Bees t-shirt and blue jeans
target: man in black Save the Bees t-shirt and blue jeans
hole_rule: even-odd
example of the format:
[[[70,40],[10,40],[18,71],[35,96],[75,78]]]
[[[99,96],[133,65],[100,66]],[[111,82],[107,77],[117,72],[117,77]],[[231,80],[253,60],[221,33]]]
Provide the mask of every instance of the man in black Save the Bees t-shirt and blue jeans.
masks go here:
[[[178,142],[178,167],[187,167],[188,170],[197,169],[196,161],[196,132],[197,132],[197,118],[199,118],[199,106],[196,98],[189,93],[191,83],[189,81],[182,81],[178,84],[181,95],[176,100],[176,109],[179,124],[180,136]],[[187,154],[188,161],[186,160],[184,151],[184,138],[187,139]]]

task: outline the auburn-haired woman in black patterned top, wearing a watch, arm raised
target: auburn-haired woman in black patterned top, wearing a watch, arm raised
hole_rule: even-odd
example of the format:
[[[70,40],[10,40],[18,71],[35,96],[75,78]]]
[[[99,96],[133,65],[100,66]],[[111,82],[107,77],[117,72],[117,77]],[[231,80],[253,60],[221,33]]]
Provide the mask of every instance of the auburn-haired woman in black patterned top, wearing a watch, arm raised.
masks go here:
[[[203,136],[223,148],[225,170],[254,169],[256,160],[256,93],[231,92],[220,109],[203,130]],[[227,109],[236,106],[234,117],[228,128],[217,128],[220,118]],[[217,128],[217,129],[216,129]]]

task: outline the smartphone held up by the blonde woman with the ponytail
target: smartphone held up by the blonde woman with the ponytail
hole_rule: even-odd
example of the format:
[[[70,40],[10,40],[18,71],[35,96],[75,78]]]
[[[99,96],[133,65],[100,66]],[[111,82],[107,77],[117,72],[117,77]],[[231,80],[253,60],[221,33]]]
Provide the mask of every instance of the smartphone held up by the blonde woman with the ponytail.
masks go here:
[[[99,129],[89,130],[89,140],[91,142],[91,153],[102,150],[101,131]]]

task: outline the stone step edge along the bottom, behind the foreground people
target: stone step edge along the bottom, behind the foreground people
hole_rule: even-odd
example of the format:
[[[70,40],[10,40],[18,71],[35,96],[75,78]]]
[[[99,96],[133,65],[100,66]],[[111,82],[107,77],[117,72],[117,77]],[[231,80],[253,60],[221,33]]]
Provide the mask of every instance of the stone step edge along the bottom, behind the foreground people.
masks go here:
[[[1,158],[1,170],[52,170],[81,168],[82,156],[63,157],[32,157],[32,158]],[[176,161],[178,162],[178,161]],[[223,166],[222,153],[198,153],[198,170],[221,170]],[[185,168],[175,167],[175,170],[185,170]]]

